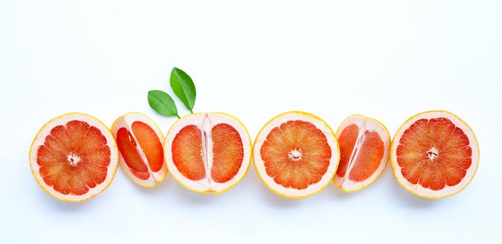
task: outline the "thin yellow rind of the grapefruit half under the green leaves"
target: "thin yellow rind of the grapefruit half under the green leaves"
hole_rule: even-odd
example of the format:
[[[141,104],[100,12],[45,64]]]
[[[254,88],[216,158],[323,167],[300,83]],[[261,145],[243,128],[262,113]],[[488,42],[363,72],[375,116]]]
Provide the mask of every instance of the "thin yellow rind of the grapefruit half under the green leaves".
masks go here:
[[[244,125],[244,123],[242,123],[242,121],[240,121],[239,119],[237,119],[235,116],[232,116],[230,114],[226,114],[226,113],[223,113],[223,112],[193,113],[193,114],[188,114],[188,115],[185,115],[185,116],[179,118],[177,121],[175,121],[175,123],[172,123],[171,127],[168,130],[168,133],[165,134],[164,145],[163,145],[164,146],[164,151],[165,151],[165,143],[167,141],[166,139],[168,138],[168,135],[171,132],[171,129],[175,126],[175,124],[178,123],[181,119],[184,119],[186,117],[193,116],[193,115],[196,115],[196,114],[223,114],[223,115],[229,116],[230,118],[233,118],[237,122],[239,122],[242,125],[242,128],[244,128],[244,130],[246,131],[246,135],[248,136],[248,139],[249,139],[249,142],[250,142],[249,143],[249,153],[251,153],[251,157],[252,157],[252,155],[253,155],[253,148],[251,147],[251,136],[249,136],[249,131],[247,130],[246,126]],[[187,189],[189,189],[189,190],[191,190],[193,192],[198,192],[200,194],[216,194],[216,195],[218,195],[218,194],[221,194],[223,192],[226,192],[226,191],[230,190],[230,188],[233,188],[235,185],[237,185],[237,183],[239,183],[240,181],[242,181],[242,179],[244,178],[244,176],[246,176],[247,172],[249,171],[249,165],[251,165],[251,157],[249,157],[248,166],[246,167],[246,171],[244,171],[244,174],[242,174],[242,177],[239,178],[239,180],[235,181],[235,183],[233,183],[232,185],[229,185],[227,188],[225,188],[223,190],[219,190],[219,191],[201,191],[201,190],[193,189],[193,188],[189,187],[188,185],[186,185],[185,183],[183,183],[183,181],[181,179],[176,178],[176,176],[174,174],[172,174],[172,170],[169,169],[169,167],[168,167],[168,172],[172,176],[172,178],[174,178],[180,185],[183,185],[185,188],[187,188]],[[165,153],[164,153],[164,160],[165,160],[165,163],[167,164],[168,159],[165,158]]]

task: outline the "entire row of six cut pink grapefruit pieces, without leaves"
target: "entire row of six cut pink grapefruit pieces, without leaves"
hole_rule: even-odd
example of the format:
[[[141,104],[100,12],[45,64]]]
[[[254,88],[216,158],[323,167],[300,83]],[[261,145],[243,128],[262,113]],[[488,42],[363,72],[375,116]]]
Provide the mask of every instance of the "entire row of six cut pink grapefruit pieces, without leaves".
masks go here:
[[[185,116],[165,139],[144,114],[125,114],[110,131],[94,117],[71,113],[40,129],[29,162],[40,187],[64,201],[98,195],[119,164],[145,187],[170,171],[186,188],[220,193],[242,179],[251,158],[265,185],[283,197],[308,197],[331,181],[345,192],[361,190],[376,181],[390,159],[406,190],[436,199],[468,185],[478,152],[471,128],[445,111],[411,117],[392,143],[385,126],[366,116],[349,116],[335,133],[313,114],[286,112],[263,126],[252,147],[244,125],[223,113]]]

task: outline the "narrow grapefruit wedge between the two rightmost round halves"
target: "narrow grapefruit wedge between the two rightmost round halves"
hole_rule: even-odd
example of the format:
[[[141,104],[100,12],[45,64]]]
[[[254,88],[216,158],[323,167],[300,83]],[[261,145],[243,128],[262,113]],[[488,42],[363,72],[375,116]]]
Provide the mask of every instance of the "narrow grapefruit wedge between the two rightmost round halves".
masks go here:
[[[337,130],[340,163],[333,182],[344,192],[356,192],[371,185],[389,160],[390,135],[375,119],[355,114]]]

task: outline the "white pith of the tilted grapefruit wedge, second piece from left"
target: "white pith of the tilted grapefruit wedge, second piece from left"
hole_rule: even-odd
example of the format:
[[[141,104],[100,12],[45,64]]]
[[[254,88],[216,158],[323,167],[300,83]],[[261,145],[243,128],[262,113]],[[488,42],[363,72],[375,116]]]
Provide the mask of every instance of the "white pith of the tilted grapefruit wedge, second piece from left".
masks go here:
[[[119,155],[119,162],[120,162],[122,169],[124,169],[126,174],[135,183],[138,183],[138,185],[153,186],[153,185],[156,185],[158,182],[163,181],[163,179],[165,178],[165,175],[168,174],[168,167],[165,165],[165,159],[163,158],[163,164],[162,164],[162,167],[160,170],[154,172],[154,171],[152,171],[152,169],[150,169],[150,165],[148,163],[147,156],[145,155],[142,148],[140,147],[140,144],[138,143],[138,140],[136,139],[136,137],[133,133],[133,129],[131,128],[131,126],[133,125],[133,123],[135,121],[140,121],[140,122],[143,122],[143,123],[146,123],[147,125],[149,125],[150,128],[152,128],[152,130],[154,130],[155,134],[157,135],[159,142],[162,144],[162,142],[163,142],[162,140],[163,140],[164,136],[162,135],[162,132],[157,127],[157,125],[155,125],[154,121],[152,121],[152,119],[150,119],[145,114],[140,114],[140,113],[136,113],[136,112],[128,113],[128,114],[125,114],[124,116],[119,117],[119,119],[117,119],[115,121],[115,123],[113,123],[113,125],[112,125],[112,133],[115,137],[117,137],[117,132],[119,131],[120,128],[126,128],[129,132],[131,132],[131,135],[132,135],[134,141],[136,142],[136,150],[138,151],[138,154],[140,155],[142,161],[145,163],[145,165],[147,165],[150,176],[146,180],[142,180],[142,179],[134,176],[134,174],[131,172],[131,168],[129,168],[127,166],[126,161],[124,161],[124,158],[122,158],[122,155]]]

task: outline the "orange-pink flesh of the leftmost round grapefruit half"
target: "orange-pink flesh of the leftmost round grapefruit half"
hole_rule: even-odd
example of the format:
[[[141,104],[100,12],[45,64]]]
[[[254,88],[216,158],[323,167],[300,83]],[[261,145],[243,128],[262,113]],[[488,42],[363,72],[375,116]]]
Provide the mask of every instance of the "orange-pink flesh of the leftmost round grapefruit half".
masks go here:
[[[101,131],[84,121],[58,125],[37,149],[43,181],[64,195],[84,195],[105,181],[110,147]]]

